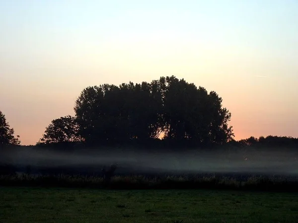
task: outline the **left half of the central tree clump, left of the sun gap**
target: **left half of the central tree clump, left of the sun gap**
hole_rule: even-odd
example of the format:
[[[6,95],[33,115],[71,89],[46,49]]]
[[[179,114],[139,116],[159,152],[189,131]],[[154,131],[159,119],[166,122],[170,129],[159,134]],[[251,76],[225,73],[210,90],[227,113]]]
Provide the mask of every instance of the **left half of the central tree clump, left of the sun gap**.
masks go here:
[[[157,88],[155,82],[87,87],[74,107],[80,135],[91,144],[157,138],[162,107]]]

